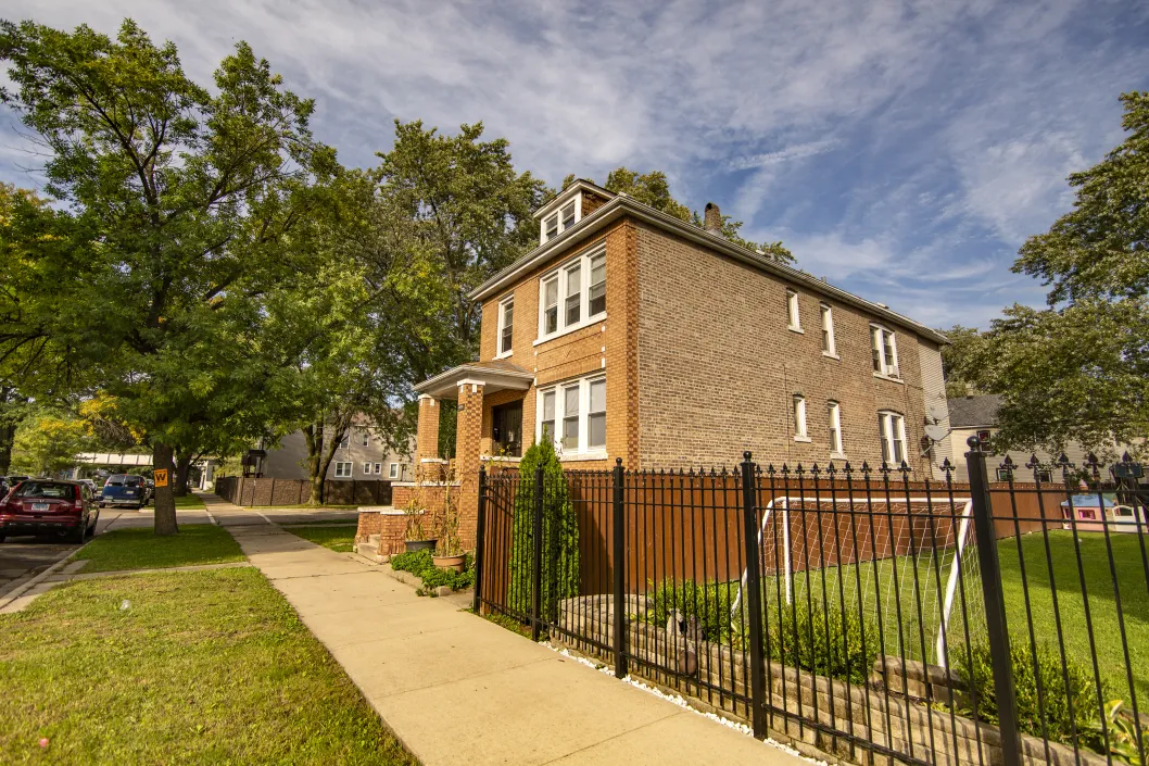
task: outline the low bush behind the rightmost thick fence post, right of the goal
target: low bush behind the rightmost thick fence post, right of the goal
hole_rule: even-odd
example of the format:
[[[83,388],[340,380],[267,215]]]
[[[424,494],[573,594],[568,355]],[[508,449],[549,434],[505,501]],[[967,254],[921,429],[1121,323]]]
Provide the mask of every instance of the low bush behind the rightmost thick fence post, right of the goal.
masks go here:
[[[1025,637],[1013,637],[1010,641],[1010,660],[1013,668],[1018,728],[1034,736],[1040,737],[1046,734],[1052,741],[1073,744],[1075,726],[1079,742],[1087,744],[1089,740],[1087,733],[1094,730],[1100,720],[1100,703],[1093,672],[1071,657],[1065,658],[1063,668],[1061,652],[1049,644],[1038,644],[1036,662],[1034,662],[1030,641]],[[969,684],[970,691],[977,695],[978,718],[996,723],[997,694],[994,689],[989,644],[980,642],[969,649],[962,648],[957,652],[955,666],[958,676]],[[1039,681],[1042,705],[1038,704]],[[1105,694],[1104,687],[1102,694]],[[1042,712],[1044,712],[1044,731]]]

